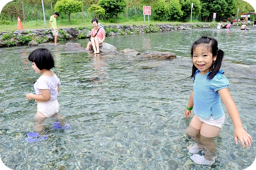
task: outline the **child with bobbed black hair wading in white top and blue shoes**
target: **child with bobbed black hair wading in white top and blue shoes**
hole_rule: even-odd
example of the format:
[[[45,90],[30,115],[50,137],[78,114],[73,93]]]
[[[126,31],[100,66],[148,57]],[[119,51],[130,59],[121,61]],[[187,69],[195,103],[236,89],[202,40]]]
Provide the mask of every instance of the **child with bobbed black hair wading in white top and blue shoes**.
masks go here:
[[[35,49],[29,55],[29,61],[32,62],[32,68],[36,73],[42,75],[35,82],[35,94],[26,94],[29,100],[34,99],[37,102],[37,112],[35,115],[35,132],[27,133],[27,142],[36,142],[47,139],[44,133],[44,120],[59,112],[59,104],[57,101],[58,92],[60,91],[60,80],[57,75],[50,69],[55,67],[55,62],[52,53],[48,49]],[[54,122],[54,129],[70,128],[69,124],[62,126],[61,122]]]

